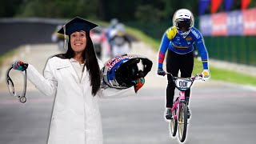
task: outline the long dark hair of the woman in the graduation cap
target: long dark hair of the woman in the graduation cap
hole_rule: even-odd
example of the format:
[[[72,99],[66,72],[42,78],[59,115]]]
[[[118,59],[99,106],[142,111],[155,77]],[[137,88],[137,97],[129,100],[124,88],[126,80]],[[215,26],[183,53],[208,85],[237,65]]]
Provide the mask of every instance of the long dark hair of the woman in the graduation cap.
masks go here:
[[[57,54],[55,55],[58,58],[73,58],[74,50],[71,48],[70,42],[68,43],[68,49],[66,54]],[[90,86],[92,86],[92,94],[95,96],[97,94],[101,79],[100,79],[100,70],[98,66],[98,59],[94,51],[94,45],[90,38],[90,33],[86,32],[86,49],[82,52],[82,58],[86,61],[86,70],[90,74]]]

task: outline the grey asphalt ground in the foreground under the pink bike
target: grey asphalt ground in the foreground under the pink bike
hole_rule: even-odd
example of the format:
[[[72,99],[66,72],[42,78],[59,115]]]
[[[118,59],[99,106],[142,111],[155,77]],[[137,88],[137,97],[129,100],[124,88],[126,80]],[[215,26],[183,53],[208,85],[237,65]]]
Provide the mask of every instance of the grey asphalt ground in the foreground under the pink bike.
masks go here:
[[[165,86],[145,88],[126,98],[101,99],[105,144],[178,143],[163,113]],[[22,104],[9,93],[0,97],[0,142],[46,143],[54,98],[27,93]],[[256,140],[255,91],[230,84],[194,86],[187,144],[252,144]]]

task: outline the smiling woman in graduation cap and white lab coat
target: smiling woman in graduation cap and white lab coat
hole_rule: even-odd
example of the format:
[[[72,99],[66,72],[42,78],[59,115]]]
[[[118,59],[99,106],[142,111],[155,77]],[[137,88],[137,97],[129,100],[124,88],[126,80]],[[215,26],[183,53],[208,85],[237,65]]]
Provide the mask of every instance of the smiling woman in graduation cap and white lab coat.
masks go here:
[[[66,54],[48,60],[44,77],[30,64],[13,63],[14,69],[27,71],[27,78],[42,93],[56,95],[48,144],[102,144],[102,122],[96,96],[134,94],[134,87],[100,88],[102,64],[96,58],[90,39],[90,30],[96,26],[78,17],[66,23],[58,31],[65,38],[66,34],[69,36]]]

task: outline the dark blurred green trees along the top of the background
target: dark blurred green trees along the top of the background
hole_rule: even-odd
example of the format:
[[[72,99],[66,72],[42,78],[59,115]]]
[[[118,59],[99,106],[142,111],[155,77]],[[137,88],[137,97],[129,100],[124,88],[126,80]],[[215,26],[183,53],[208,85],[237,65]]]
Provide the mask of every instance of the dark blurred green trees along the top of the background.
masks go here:
[[[199,1],[189,0],[6,0],[0,5],[0,17],[46,17],[46,18],[118,18],[122,22],[147,19],[170,20],[174,12],[189,9],[198,15]],[[251,1],[248,8],[255,7]],[[231,10],[240,10],[241,1],[234,1]],[[224,10],[224,2],[219,11]],[[210,13],[210,6],[206,14]]]

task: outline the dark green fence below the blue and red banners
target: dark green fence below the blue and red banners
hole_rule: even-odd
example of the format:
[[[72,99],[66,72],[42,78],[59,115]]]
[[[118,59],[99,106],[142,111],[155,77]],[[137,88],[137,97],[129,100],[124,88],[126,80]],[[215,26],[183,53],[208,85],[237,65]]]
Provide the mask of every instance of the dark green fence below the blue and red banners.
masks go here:
[[[204,37],[210,58],[256,66],[256,36]]]

